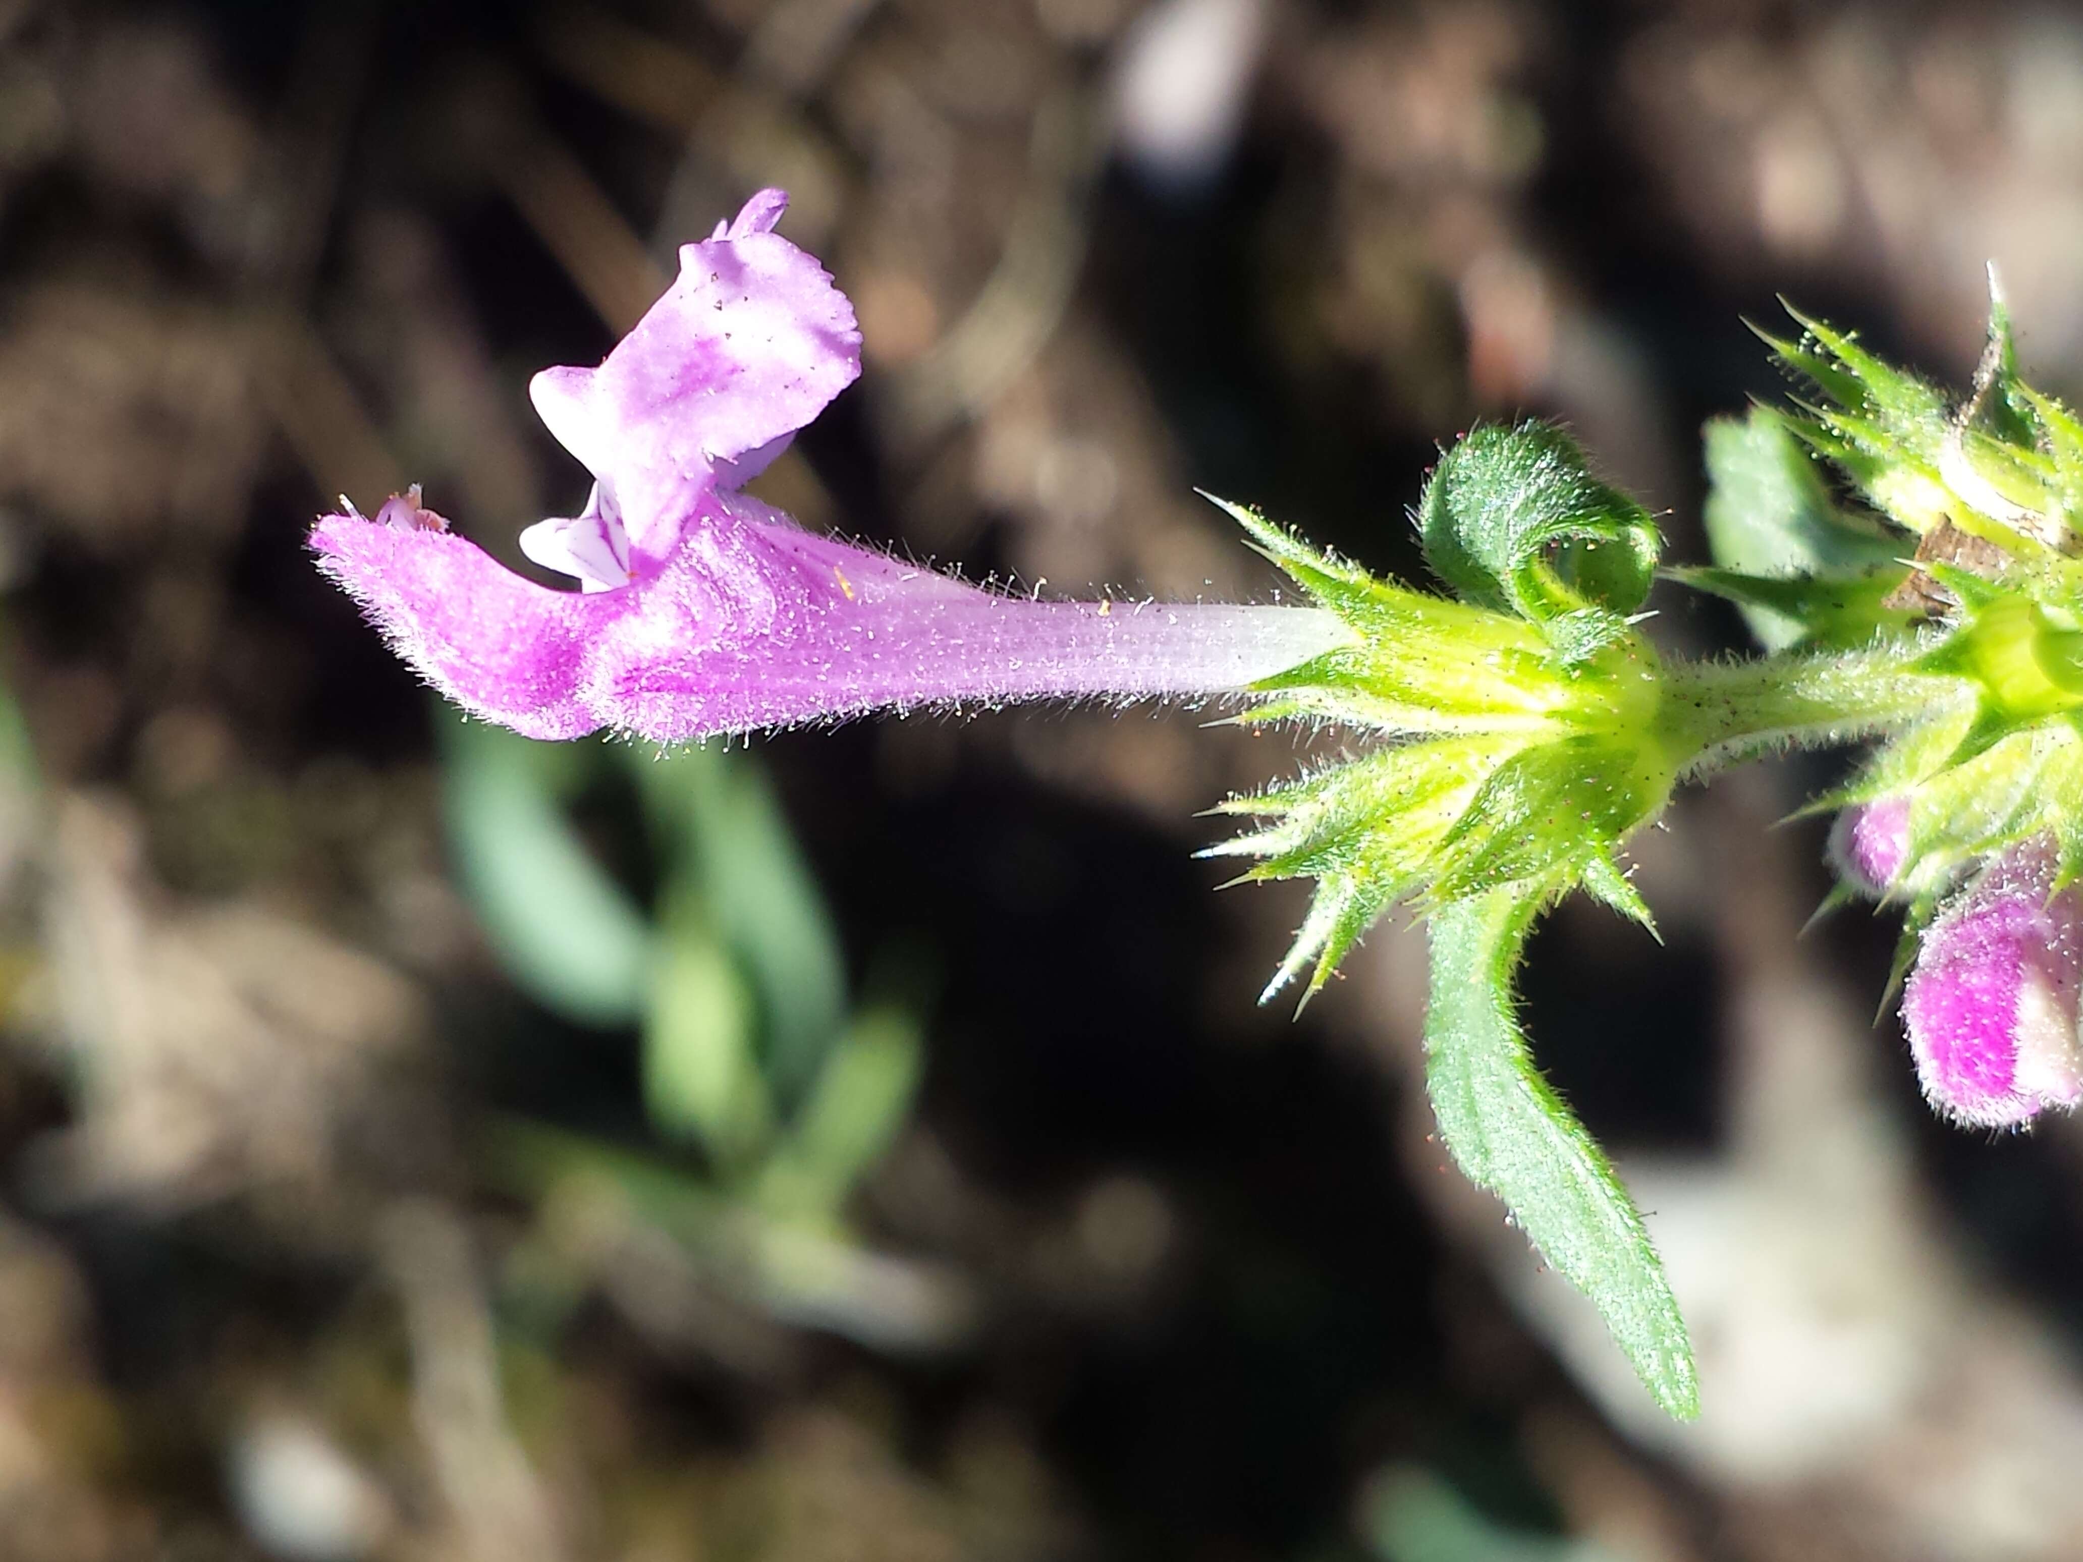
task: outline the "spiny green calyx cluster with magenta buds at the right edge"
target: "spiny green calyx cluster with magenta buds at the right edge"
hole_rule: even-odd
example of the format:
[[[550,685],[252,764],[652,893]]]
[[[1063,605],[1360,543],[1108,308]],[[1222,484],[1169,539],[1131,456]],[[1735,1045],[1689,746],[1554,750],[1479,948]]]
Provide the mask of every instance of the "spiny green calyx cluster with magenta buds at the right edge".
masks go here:
[[[1781,354],[1831,402],[1796,433],[1918,537],[1910,573],[1879,577],[1910,614],[1893,633],[1968,691],[1891,733],[1831,862],[1908,912],[1902,1025],[1927,1100],[2021,1127],[2083,1102],[2083,425],[2018,377],[2002,296],[1958,406],[1827,327]]]

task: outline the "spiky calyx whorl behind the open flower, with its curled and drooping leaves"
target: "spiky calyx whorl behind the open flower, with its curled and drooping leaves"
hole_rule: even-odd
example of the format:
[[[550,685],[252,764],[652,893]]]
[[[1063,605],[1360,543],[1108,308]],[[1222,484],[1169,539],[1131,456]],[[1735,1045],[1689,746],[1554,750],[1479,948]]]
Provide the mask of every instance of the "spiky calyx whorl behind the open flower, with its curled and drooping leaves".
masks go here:
[[[1431,927],[1425,1050],[1441,1141],[1591,1295],[1656,1400],[1693,1414],[1685,1325],[1641,1216],[1541,1079],[1512,1002],[1527,931],[1571,887],[1650,921],[1618,854],[1662,810],[1698,725],[1666,704],[1668,669],[1629,616],[1654,579],[1654,525],[1539,425],[1479,429],[1427,485],[1425,556],[1460,600],[1225,508],[1356,631],[1258,685],[1239,721],[1377,739],[1221,808],[1262,823],[1210,856],[1256,858],[1246,879],[1316,881],[1266,996],[1304,973],[1316,991],[1377,916],[1414,904]]]

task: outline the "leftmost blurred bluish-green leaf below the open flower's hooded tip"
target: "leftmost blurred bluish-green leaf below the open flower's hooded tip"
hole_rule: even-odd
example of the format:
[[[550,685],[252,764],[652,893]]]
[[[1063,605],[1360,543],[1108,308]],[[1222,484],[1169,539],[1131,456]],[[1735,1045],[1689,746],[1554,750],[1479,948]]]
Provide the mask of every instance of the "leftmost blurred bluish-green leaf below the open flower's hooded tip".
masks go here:
[[[448,843],[500,964],[564,1018],[633,1023],[644,1012],[650,927],[558,806],[554,771],[569,750],[460,716],[442,733]]]

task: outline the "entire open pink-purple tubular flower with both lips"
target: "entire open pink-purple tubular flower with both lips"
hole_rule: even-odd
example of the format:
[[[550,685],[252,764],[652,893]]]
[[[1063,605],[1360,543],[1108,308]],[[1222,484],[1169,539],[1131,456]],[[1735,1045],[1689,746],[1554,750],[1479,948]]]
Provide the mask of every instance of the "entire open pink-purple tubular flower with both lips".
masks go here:
[[[854,310],[764,190],[679,252],[598,369],[531,385],[594,473],[521,535],[552,591],[419,506],[321,517],[319,566],[465,710],[529,737],[679,741],[875,708],[1237,689],[1344,644],[1314,608],[1029,602],[802,531],[739,494],[860,373]]]

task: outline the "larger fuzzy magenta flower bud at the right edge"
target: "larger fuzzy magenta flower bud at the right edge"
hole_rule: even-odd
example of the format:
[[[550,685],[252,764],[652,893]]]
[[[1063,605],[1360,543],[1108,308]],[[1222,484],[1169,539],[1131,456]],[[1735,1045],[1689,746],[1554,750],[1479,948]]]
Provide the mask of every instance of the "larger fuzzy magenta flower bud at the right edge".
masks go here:
[[[2012,846],[1925,929],[1902,1023],[1925,1098],[1956,1123],[2008,1129],[2083,1100],[2083,896],[2054,873],[2046,841]]]

